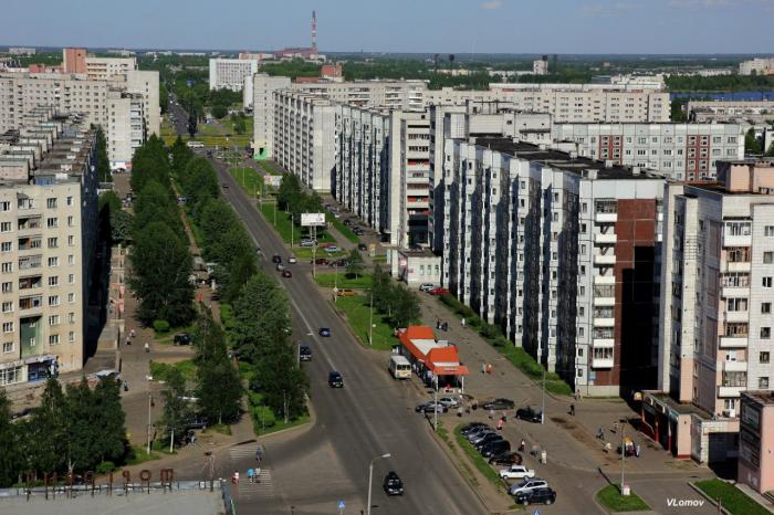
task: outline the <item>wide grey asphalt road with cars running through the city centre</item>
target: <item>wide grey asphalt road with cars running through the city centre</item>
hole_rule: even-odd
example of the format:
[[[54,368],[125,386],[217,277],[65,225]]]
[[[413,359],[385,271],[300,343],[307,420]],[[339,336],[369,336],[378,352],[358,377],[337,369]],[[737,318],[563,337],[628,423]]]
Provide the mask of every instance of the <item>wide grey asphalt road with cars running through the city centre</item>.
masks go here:
[[[420,392],[408,382],[389,377],[386,355],[359,346],[322,298],[311,274],[303,271],[306,265],[291,269],[295,272],[292,278],[279,277],[268,260],[275,253],[285,259],[289,251],[224,166],[213,164],[221,183],[229,186],[223,188],[224,199],[234,207],[266,256],[262,266],[275,274],[287,291],[296,340],[308,344],[314,354],[313,361],[304,366],[308,367],[316,422],[295,438],[266,445],[264,464],[271,471],[271,488],[261,485],[253,492],[253,485],[240,485],[238,509],[290,513],[294,506],[295,513],[335,513],[337,502],[343,500],[347,512],[357,513],[367,504],[370,460],[390,453],[389,459],[375,462],[374,513],[484,513],[478,497],[433,441],[425,419],[414,412]],[[331,338],[317,336],[323,326],[332,329]],[[342,372],[345,388],[327,386],[331,370]],[[249,453],[242,454],[232,453],[232,466],[243,474],[254,461]],[[404,479],[405,496],[387,498],[384,494],[381,480],[389,470]]]

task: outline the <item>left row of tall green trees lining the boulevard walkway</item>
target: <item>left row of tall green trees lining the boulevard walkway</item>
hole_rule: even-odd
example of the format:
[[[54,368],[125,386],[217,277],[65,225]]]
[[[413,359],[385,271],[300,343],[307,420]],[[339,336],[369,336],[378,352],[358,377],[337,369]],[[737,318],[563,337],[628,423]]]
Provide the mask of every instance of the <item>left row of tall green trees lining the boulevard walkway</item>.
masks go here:
[[[167,149],[155,135],[132,160],[134,206],[129,285],[138,298],[137,317],[145,324],[188,324],[192,305],[192,258],[171,187]]]

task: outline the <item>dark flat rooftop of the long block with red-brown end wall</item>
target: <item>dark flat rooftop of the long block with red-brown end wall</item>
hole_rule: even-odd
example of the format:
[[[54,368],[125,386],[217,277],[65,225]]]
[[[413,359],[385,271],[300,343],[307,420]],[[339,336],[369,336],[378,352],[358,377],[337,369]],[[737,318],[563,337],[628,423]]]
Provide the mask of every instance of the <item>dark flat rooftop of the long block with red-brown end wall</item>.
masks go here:
[[[541,162],[555,169],[574,172],[578,176],[587,175],[587,170],[594,170],[596,178],[602,180],[620,179],[659,179],[663,176],[652,170],[640,170],[636,167],[611,165],[609,161],[596,161],[587,157],[576,157],[568,153],[533,145],[524,141],[514,141],[511,138],[477,138],[475,145],[490,148],[501,154],[508,154],[533,162]]]

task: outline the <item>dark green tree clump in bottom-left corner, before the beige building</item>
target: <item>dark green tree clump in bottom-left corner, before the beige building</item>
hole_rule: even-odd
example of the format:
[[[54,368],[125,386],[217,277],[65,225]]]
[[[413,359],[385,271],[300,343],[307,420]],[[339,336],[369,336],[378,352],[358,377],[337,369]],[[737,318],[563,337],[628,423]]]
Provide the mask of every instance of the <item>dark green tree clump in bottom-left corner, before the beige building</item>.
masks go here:
[[[107,471],[128,456],[118,383],[85,379],[67,385],[49,379],[40,406],[11,420],[11,403],[0,390],[0,486],[56,472]]]

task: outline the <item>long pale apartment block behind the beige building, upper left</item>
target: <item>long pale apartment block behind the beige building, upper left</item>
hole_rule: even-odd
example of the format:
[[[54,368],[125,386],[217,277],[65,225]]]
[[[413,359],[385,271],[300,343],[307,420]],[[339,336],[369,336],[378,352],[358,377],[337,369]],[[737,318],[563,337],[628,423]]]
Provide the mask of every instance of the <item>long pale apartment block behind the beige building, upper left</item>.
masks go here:
[[[53,107],[57,114],[79,113],[85,124],[105,128],[108,139],[108,157],[113,168],[125,168],[130,161],[126,146],[137,135],[115,133],[127,126],[119,123],[133,116],[121,103],[109,103],[108,93],[121,91],[143,103],[145,134],[160,134],[158,72],[127,71],[109,81],[86,78],[85,74],[65,73],[0,73],[0,132],[18,129],[30,120],[28,115],[39,107]],[[136,125],[136,124],[135,124]],[[115,145],[113,145],[115,141]]]

